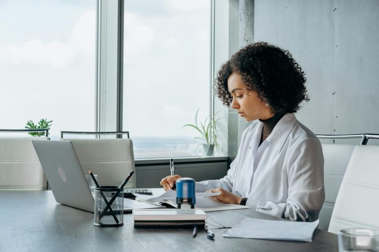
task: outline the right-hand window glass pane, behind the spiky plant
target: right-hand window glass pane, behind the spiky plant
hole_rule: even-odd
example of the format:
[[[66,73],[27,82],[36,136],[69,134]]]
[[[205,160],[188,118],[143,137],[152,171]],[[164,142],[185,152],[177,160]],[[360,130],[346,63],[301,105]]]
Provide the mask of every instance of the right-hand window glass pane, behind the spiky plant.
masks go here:
[[[209,0],[125,0],[123,130],[135,158],[195,156],[198,133],[183,126],[209,115],[209,49]]]

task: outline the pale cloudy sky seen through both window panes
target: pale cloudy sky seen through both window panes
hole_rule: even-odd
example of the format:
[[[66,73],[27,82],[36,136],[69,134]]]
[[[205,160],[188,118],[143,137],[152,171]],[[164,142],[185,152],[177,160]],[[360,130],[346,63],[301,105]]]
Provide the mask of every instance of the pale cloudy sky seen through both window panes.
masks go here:
[[[210,1],[125,0],[124,130],[193,137],[209,109]],[[0,0],[0,128],[95,129],[95,0]]]

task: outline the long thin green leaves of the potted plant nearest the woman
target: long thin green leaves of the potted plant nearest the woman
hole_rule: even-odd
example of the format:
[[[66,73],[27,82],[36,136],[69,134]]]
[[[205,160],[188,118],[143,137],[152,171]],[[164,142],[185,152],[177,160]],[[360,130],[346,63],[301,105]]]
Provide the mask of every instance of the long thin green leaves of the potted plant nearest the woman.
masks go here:
[[[219,113],[218,111],[215,116]],[[217,142],[217,122],[221,119],[215,120],[215,117],[207,116],[205,118],[204,122],[197,122],[197,114],[199,113],[199,109],[196,111],[195,115],[195,124],[186,124],[183,127],[192,127],[196,129],[200,133],[200,137],[195,137],[194,139],[199,139],[201,141],[204,141],[206,144],[214,144],[215,147],[219,147],[219,143]]]

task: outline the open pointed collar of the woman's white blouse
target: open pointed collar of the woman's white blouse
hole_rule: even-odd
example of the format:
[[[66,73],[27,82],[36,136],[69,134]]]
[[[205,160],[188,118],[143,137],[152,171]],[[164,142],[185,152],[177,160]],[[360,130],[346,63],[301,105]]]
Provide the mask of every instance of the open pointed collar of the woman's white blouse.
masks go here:
[[[279,153],[283,147],[284,141],[287,139],[287,136],[291,132],[292,128],[295,126],[297,119],[294,113],[285,114],[279,122],[275,125],[271,134],[266,138],[266,141],[274,147]],[[258,141],[261,139],[261,133],[263,129],[263,123],[258,121],[259,125],[256,128],[256,131],[253,134],[253,138],[257,138]]]

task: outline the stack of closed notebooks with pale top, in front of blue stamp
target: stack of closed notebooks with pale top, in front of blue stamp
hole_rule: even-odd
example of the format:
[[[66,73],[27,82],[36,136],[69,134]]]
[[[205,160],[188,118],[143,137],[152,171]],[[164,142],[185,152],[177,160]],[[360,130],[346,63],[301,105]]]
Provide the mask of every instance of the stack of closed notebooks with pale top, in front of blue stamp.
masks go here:
[[[134,227],[203,228],[207,215],[200,209],[134,209]]]

